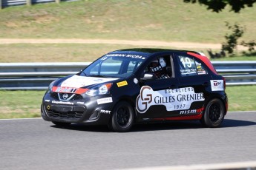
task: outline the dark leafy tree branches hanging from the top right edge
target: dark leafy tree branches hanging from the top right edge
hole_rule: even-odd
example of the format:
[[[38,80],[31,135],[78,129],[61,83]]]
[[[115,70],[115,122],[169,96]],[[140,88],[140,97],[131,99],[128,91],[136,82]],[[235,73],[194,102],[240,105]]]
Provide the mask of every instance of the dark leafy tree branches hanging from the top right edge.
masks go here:
[[[205,4],[208,10],[219,13],[226,5],[232,7],[234,13],[239,13],[244,7],[252,7],[256,0],[183,0],[184,2]]]

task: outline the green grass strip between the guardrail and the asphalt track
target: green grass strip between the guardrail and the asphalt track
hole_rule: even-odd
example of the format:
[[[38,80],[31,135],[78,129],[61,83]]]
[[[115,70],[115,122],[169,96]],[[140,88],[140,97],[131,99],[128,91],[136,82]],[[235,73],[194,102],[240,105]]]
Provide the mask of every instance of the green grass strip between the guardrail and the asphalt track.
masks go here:
[[[255,86],[227,86],[229,111],[256,110]],[[40,105],[45,91],[1,91],[0,119],[40,117]]]

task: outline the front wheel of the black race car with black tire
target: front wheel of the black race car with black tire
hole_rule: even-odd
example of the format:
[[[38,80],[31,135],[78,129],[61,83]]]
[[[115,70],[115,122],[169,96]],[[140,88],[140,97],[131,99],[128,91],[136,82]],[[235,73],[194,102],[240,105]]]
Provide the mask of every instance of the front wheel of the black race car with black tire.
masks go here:
[[[109,127],[114,132],[128,132],[134,123],[134,109],[126,101],[120,101],[113,109]]]

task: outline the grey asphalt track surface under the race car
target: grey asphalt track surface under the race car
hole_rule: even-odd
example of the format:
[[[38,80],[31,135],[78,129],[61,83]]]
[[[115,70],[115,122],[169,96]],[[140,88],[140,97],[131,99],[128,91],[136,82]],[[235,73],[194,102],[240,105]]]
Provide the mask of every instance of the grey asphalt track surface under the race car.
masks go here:
[[[256,160],[256,112],[229,112],[223,126],[197,121],[137,125],[131,132],[41,118],[0,120],[0,169],[134,169]]]

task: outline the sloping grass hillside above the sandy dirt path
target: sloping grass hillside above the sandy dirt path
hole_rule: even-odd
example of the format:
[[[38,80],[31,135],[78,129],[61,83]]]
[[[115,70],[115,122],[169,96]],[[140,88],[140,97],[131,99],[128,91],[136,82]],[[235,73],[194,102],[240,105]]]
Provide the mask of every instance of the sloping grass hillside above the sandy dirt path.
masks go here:
[[[256,39],[255,7],[221,13],[183,0],[91,0],[7,7],[0,10],[0,38],[105,38],[221,43],[225,21]]]

